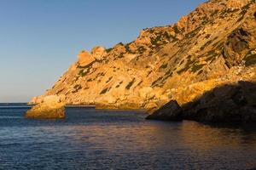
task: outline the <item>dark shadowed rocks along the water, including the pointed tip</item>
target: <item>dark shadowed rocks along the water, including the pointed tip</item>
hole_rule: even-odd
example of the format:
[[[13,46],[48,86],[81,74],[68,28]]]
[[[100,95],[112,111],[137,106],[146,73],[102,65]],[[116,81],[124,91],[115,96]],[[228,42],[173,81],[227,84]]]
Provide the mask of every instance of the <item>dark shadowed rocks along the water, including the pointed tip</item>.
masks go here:
[[[169,109],[171,108],[171,109]],[[256,83],[226,84],[180,107],[172,101],[152,115],[154,120],[197,122],[256,122]]]

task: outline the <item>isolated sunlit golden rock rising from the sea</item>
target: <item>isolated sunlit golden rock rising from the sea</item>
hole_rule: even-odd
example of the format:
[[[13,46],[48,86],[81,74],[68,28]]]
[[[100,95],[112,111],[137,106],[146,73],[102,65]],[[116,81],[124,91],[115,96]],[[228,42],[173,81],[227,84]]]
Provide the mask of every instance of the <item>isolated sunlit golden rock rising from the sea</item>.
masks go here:
[[[65,118],[65,99],[61,96],[46,96],[41,103],[26,112],[26,118],[61,119]]]

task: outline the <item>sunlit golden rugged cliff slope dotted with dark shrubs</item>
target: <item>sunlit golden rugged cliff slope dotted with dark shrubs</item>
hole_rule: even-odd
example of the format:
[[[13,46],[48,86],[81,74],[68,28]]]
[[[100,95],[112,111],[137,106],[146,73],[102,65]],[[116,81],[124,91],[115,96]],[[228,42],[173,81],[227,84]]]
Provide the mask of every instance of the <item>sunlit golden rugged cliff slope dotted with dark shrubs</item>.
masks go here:
[[[157,109],[183,105],[224,83],[256,80],[255,0],[212,0],[172,26],[147,28],[134,42],[82,51],[42,96],[68,104]]]

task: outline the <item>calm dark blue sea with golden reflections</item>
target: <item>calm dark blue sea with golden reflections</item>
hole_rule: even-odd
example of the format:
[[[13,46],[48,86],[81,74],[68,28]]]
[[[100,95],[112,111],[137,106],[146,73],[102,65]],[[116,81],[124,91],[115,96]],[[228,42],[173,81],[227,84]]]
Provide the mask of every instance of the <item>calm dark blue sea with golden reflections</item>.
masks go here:
[[[0,108],[0,169],[253,169],[256,129],[145,121],[143,111],[67,109],[26,120]]]

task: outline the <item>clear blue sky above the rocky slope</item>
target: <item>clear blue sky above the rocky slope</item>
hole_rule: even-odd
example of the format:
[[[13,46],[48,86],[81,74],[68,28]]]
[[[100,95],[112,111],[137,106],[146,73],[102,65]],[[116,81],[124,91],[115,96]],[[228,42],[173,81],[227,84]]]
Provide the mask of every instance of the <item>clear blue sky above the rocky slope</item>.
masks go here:
[[[205,0],[0,0],[0,102],[43,94],[80,50],[131,42]]]

